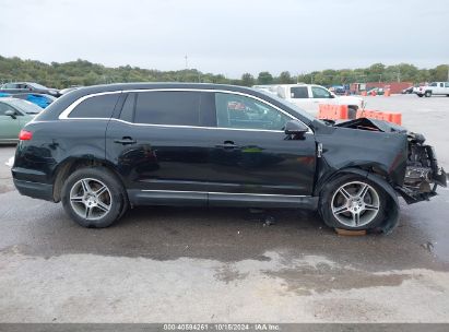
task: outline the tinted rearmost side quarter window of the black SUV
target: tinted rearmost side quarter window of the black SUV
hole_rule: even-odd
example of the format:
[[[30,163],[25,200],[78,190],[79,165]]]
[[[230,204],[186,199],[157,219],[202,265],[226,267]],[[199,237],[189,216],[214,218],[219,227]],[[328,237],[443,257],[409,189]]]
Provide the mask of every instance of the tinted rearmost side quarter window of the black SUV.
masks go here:
[[[90,97],[80,103],[69,115],[69,118],[104,118],[113,116],[120,94],[107,94]]]

